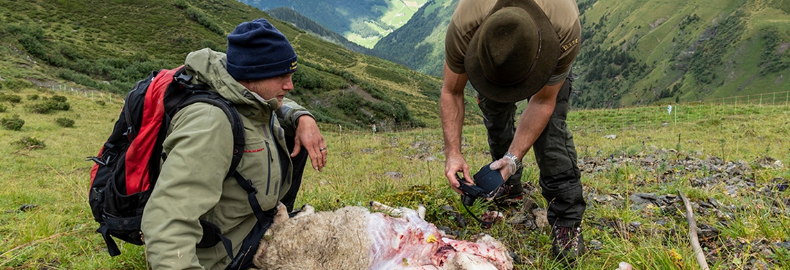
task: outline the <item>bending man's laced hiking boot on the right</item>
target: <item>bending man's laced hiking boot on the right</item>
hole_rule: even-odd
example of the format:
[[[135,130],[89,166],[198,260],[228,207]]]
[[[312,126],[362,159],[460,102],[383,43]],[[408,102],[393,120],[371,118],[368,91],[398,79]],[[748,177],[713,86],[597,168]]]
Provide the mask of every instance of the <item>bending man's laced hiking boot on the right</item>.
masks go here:
[[[581,235],[581,227],[554,226],[551,228],[551,253],[557,261],[566,264],[576,263],[576,259],[585,253],[585,238]]]

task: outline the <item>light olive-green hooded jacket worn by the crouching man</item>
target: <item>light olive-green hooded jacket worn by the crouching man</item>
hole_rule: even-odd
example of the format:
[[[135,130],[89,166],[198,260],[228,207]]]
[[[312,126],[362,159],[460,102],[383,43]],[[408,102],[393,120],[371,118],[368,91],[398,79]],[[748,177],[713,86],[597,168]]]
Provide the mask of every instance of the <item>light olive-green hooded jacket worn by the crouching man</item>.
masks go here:
[[[266,211],[291,187],[291,149],[284,134],[295,130],[296,118],[310,114],[290,99],[277,108],[276,99],[253,95],[228,74],[225,63],[224,53],[203,49],[187,55],[185,66],[193,83],[219,92],[239,111],[246,145],[236,171],[253,182]],[[156,270],[224,269],[231,258],[221,243],[195,246],[203,234],[199,220],[220,227],[234,254],[257,221],[246,191],[235,178],[225,178],[233,150],[231,124],[220,107],[194,103],[173,116],[167,132],[167,159],[142,216],[146,256]]]

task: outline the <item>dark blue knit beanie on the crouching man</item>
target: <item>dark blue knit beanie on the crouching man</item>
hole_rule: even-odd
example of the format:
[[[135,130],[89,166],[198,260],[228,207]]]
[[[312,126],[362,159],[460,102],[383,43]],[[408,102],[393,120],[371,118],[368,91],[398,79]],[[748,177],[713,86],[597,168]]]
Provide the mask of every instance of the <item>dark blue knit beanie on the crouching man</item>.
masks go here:
[[[236,81],[254,81],[296,71],[296,53],[288,39],[266,19],[239,24],[228,35],[228,73]]]

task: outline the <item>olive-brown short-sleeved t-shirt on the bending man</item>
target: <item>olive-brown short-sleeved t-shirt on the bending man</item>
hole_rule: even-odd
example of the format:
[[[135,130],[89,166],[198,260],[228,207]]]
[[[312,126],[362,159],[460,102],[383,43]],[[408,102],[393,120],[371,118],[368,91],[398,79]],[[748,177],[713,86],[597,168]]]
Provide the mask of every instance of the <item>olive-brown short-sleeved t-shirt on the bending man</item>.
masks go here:
[[[547,85],[564,81],[570,73],[570,64],[576,59],[581,41],[579,9],[575,0],[534,0],[551,21],[559,37],[560,55],[551,79]],[[445,38],[445,58],[447,66],[454,73],[466,73],[464,58],[469,40],[477,28],[486,21],[497,0],[461,0],[447,27]]]

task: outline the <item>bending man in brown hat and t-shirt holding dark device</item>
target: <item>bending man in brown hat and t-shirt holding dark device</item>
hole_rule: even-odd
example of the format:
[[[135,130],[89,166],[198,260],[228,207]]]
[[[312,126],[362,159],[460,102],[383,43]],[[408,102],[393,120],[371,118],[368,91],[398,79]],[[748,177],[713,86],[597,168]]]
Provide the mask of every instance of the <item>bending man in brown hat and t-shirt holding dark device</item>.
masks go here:
[[[440,98],[445,174],[457,192],[457,172],[472,179],[461,153],[464,88],[478,92],[488,131],[491,169],[506,179],[498,199],[521,197],[521,159],[534,149],[548,202],[552,252],[574,261],[584,252],[581,174],[566,127],[570,65],[581,26],[574,0],[461,0],[447,28]],[[516,102],[529,99],[515,122]]]

